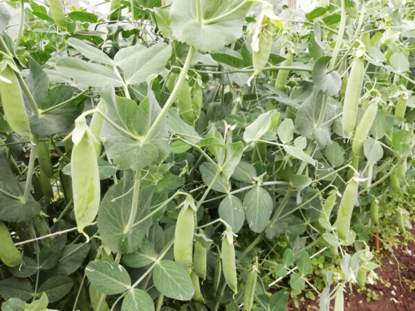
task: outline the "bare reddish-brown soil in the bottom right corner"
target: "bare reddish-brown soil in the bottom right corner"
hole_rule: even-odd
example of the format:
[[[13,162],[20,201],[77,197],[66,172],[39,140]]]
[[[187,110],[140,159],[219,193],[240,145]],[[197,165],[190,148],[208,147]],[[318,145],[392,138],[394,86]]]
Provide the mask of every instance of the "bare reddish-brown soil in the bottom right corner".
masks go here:
[[[415,229],[412,230],[415,234]],[[344,295],[344,310],[357,311],[415,311],[415,242],[394,249],[394,256],[387,249],[381,249],[382,265],[376,270],[379,279],[367,288],[378,294],[378,299],[366,300],[367,292],[353,292]],[[306,300],[295,308],[290,303],[288,310],[319,310],[318,301]]]

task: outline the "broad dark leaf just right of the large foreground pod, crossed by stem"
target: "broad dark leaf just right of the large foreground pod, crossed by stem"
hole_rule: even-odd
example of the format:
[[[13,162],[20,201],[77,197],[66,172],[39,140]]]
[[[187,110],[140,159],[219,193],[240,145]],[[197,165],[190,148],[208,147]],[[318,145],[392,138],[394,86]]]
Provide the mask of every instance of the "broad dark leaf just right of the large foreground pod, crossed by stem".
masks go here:
[[[133,180],[127,176],[107,191],[98,210],[98,232],[105,245],[114,253],[136,251],[144,242],[151,225],[151,218],[148,218],[133,226],[131,232],[125,232],[131,214],[132,188]],[[149,214],[152,192],[152,187],[140,189],[135,223]]]

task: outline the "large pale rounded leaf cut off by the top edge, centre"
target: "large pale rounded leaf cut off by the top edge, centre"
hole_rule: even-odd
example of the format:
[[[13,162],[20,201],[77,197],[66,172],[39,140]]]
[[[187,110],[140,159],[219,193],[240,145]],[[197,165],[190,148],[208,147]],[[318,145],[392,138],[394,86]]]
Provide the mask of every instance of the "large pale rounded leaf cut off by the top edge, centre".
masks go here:
[[[198,3],[201,3],[200,22]],[[173,36],[202,52],[220,50],[241,37],[250,4],[244,0],[175,0],[170,9]]]

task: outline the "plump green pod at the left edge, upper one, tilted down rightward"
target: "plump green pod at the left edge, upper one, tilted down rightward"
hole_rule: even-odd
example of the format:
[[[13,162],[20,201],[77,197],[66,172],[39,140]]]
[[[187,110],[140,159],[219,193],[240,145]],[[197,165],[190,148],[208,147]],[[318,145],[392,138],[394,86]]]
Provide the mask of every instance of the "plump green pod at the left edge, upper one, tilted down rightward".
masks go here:
[[[0,75],[3,77],[0,78],[0,97],[6,120],[17,135],[31,138],[29,119],[15,71],[6,66]]]

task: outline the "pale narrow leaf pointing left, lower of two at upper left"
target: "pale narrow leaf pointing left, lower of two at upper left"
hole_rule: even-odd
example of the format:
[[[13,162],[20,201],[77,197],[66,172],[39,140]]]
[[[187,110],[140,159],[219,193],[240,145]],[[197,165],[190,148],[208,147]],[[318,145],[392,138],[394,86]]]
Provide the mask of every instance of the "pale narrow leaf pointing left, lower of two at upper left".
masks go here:
[[[56,62],[56,68],[76,82],[88,86],[103,88],[106,84],[111,84],[114,87],[124,85],[124,82],[117,77],[113,70],[75,57],[59,58]]]

